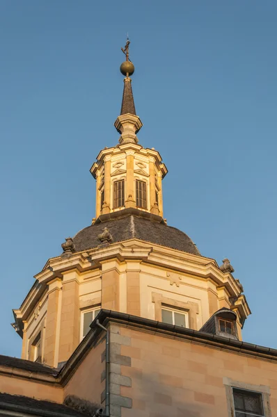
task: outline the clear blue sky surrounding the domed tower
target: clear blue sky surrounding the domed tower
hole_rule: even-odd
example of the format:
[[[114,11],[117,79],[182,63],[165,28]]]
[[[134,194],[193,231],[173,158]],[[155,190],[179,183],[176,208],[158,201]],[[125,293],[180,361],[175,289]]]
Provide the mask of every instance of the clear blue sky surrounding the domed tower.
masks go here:
[[[200,252],[228,257],[277,347],[277,2],[0,1],[0,353],[47,259],[95,215],[90,166],[116,145],[126,33],[141,145],[168,167],[164,213]]]

